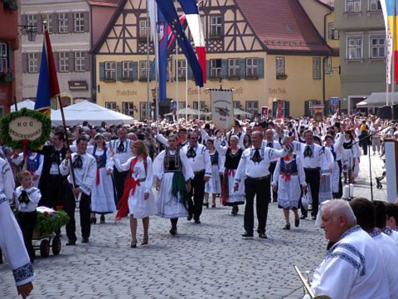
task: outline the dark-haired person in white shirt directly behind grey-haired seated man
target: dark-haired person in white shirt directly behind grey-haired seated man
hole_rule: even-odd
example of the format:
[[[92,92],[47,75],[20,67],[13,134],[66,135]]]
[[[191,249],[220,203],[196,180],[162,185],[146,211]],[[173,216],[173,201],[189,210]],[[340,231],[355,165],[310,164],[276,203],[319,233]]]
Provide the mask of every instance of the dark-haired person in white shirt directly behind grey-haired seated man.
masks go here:
[[[376,209],[366,198],[356,198],[350,206],[357,218],[357,224],[362,227],[376,242],[382,254],[385,277],[389,283],[390,295],[398,295],[398,244],[376,228]]]

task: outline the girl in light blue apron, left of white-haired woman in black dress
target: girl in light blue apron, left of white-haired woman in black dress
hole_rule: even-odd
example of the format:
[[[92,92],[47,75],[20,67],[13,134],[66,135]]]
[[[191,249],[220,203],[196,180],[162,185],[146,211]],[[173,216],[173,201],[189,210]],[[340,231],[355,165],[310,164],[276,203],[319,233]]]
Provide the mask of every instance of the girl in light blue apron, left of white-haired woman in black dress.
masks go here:
[[[206,142],[208,153],[211,160],[211,179],[209,179],[204,186],[204,202],[203,205],[208,208],[208,196],[211,193],[212,204],[211,207],[215,208],[215,197],[221,193],[221,180],[220,168],[222,168],[219,153],[214,148],[214,140],[208,139]]]

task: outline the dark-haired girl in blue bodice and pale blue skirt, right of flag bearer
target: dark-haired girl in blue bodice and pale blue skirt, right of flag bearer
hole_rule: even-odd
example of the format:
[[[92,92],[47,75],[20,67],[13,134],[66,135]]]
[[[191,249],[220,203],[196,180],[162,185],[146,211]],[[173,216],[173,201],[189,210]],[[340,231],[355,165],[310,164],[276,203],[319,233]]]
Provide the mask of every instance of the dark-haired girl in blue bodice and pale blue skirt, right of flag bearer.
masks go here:
[[[96,214],[100,214],[100,223],[105,223],[105,214],[116,211],[114,187],[111,177],[113,162],[105,146],[102,134],[94,138],[95,146],[90,147],[90,154],[97,160],[96,183],[91,191],[91,223],[97,223]],[[88,150],[89,151],[89,150]]]

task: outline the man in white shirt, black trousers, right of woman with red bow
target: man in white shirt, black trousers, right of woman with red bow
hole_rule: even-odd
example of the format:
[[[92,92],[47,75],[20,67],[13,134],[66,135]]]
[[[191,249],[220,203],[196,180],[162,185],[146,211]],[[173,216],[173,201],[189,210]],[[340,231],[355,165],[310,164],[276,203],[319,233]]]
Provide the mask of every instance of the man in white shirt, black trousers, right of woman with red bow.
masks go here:
[[[313,143],[313,133],[310,130],[304,132],[305,144],[293,142],[293,149],[300,157],[305,172],[305,182],[311,188],[312,196],[312,220],[316,220],[319,205],[320,180],[326,179],[329,173],[329,165],[321,146]],[[321,177],[322,173],[322,177]],[[307,211],[301,209],[300,219],[307,218]]]

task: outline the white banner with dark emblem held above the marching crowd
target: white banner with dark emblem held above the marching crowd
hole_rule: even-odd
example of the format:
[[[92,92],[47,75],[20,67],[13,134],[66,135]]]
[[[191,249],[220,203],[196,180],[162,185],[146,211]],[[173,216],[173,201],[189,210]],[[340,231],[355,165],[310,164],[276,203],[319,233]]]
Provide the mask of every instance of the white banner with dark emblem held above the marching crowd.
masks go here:
[[[218,129],[229,130],[235,124],[233,90],[210,89],[211,120]]]

